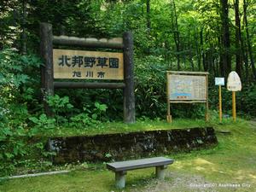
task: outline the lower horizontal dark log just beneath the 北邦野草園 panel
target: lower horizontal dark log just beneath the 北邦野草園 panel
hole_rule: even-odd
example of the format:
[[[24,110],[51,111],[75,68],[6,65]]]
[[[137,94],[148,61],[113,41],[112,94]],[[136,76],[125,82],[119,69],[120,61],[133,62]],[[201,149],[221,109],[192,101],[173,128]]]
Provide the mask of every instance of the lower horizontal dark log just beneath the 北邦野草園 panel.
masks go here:
[[[55,89],[123,89],[124,83],[54,82]]]

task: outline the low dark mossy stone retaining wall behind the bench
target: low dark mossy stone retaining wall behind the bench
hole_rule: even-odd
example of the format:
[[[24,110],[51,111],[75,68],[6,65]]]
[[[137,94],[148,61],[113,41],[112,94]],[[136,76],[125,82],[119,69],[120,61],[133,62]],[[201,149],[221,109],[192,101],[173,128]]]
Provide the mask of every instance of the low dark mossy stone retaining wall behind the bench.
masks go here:
[[[82,161],[129,160],[177,151],[215,146],[212,127],[143,131],[93,137],[55,137],[49,150],[55,151],[56,164]]]

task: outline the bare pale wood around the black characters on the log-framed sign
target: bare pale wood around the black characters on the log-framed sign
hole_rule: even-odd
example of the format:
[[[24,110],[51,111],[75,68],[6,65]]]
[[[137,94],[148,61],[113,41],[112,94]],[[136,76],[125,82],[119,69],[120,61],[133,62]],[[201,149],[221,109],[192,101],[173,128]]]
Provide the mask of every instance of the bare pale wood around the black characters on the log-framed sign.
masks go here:
[[[65,62],[60,65],[60,58],[67,56],[69,66]],[[123,53],[106,52],[106,51],[88,51],[88,50],[73,50],[73,49],[53,49],[54,63],[54,78],[55,79],[124,79],[124,57]],[[82,57],[80,61],[72,65],[72,58]],[[96,62],[90,67],[85,67],[84,57],[106,58],[106,66],[101,67]],[[118,60],[118,67],[110,67],[111,59]],[[63,60],[63,58],[61,59]],[[79,63],[80,62],[80,63]],[[90,64],[89,64],[90,65]],[[79,72],[79,77],[73,75],[73,72]],[[103,73],[103,77],[98,75]],[[90,74],[90,75],[89,75]]]

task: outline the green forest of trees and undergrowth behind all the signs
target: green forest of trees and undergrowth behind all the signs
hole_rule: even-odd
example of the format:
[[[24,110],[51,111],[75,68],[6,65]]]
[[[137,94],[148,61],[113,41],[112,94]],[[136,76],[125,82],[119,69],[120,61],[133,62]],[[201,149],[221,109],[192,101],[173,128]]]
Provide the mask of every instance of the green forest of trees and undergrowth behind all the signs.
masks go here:
[[[80,38],[134,36],[137,119],[165,119],[166,70],[206,71],[209,103],[218,110],[214,77],[241,77],[237,111],[255,116],[255,0],[3,0],[0,2],[0,165],[3,174],[27,165],[24,157],[44,143],[28,140],[56,127],[96,126],[122,119],[122,90],[56,90],[48,98],[55,118],[44,114],[40,90],[39,23],[54,35]],[[231,92],[223,88],[230,115]],[[107,112],[107,113],[106,113]],[[199,119],[201,104],[172,106],[177,118]],[[22,139],[20,139],[22,137]],[[17,139],[19,138],[19,139]]]

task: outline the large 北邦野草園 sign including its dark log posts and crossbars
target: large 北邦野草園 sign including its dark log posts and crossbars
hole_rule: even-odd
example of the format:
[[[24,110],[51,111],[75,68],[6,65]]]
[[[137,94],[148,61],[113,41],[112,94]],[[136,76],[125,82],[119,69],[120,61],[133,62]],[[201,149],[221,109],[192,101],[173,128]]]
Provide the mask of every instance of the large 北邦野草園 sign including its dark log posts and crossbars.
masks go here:
[[[53,49],[53,48],[69,49]],[[78,49],[82,47],[83,50]],[[111,49],[115,52],[84,49]],[[124,32],[122,38],[78,38],[54,36],[52,25],[40,24],[41,90],[44,111],[53,116],[47,96],[55,89],[123,89],[124,121],[135,123],[135,96],[133,74],[133,38]],[[65,79],[62,81],[62,79]],[[67,80],[68,79],[68,80]],[[74,79],[74,80],[73,80]],[[78,81],[77,79],[96,79]],[[98,79],[108,80],[99,81]],[[119,80],[113,82],[111,80]]]

